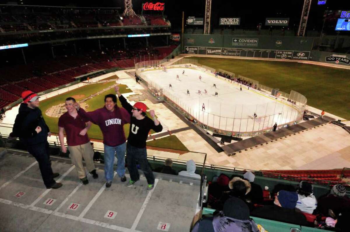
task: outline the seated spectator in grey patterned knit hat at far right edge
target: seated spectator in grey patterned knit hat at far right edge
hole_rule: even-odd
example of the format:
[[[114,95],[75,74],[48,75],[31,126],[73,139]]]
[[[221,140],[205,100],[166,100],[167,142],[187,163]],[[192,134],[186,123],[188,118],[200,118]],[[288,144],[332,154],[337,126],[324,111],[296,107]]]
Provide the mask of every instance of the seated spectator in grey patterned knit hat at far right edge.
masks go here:
[[[339,214],[342,208],[350,209],[350,199],[345,196],[346,189],[342,184],[336,184],[326,196],[318,198],[317,211],[324,216],[328,215],[328,210],[332,210],[336,215]]]

